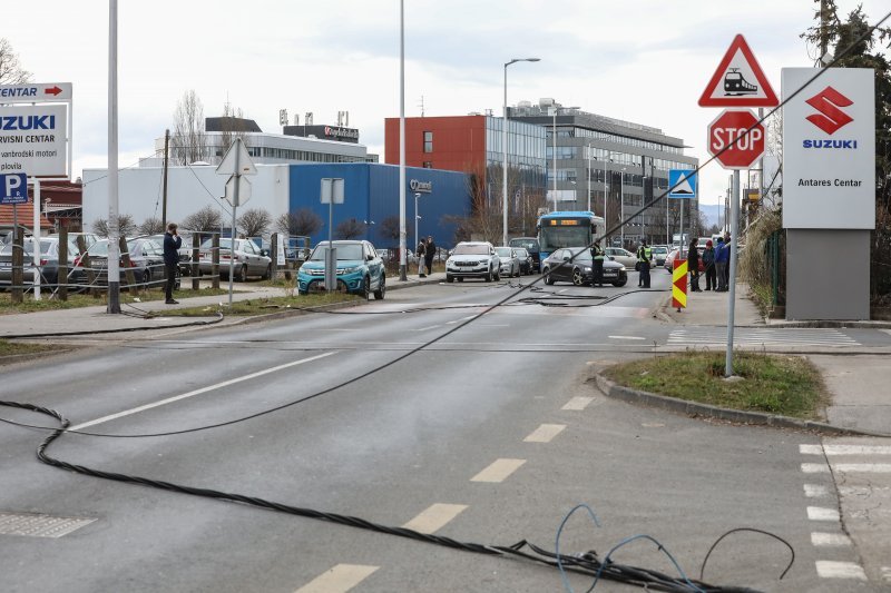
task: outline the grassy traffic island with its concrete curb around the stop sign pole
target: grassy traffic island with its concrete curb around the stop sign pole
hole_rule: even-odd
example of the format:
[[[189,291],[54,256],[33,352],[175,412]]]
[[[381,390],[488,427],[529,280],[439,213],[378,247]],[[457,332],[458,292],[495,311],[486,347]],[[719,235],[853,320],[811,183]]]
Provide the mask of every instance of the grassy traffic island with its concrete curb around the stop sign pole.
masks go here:
[[[724,377],[723,353],[685,352],[593,367],[605,395],[692,417],[777,426],[825,434],[873,434],[825,423],[829,392],[801,356],[737,352],[734,377]]]

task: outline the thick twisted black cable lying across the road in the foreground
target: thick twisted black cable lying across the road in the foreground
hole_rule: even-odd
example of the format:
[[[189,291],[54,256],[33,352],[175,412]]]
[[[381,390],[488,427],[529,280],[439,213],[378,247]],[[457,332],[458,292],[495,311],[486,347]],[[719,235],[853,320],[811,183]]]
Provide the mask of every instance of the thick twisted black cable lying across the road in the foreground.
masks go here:
[[[515,560],[525,560],[535,562],[537,564],[542,564],[550,567],[557,567],[558,563],[562,566],[564,570],[568,570],[578,574],[585,574],[589,576],[596,576],[597,579],[606,579],[610,581],[621,582],[629,585],[637,585],[649,591],[666,591],[666,592],[677,592],[677,593],[689,593],[689,592],[705,592],[705,593],[754,593],[755,590],[747,589],[747,587],[736,587],[736,586],[718,586],[718,585],[711,585],[704,583],[702,581],[692,581],[686,577],[674,577],[666,574],[663,574],[658,571],[652,571],[648,569],[642,569],[637,566],[630,566],[625,564],[618,564],[608,560],[601,562],[597,557],[596,552],[587,552],[580,555],[565,555],[560,554],[557,555],[552,552],[548,552],[541,547],[538,547],[526,540],[517,542],[513,545],[509,546],[500,546],[500,545],[486,545],[486,544],[478,544],[478,543],[470,543],[470,542],[460,542],[458,540],[453,540],[451,537],[443,537],[441,535],[433,535],[427,533],[420,533],[413,530],[409,530],[405,527],[393,527],[386,525],[380,525],[378,523],[373,523],[371,521],[350,516],[350,515],[340,515],[336,513],[325,513],[322,511],[316,511],[312,508],[303,508],[298,506],[292,506],[282,503],[275,503],[272,501],[266,501],[264,498],[258,498],[254,496],[245,496],[242,494],[233,494],[226,493],[209,488],[196,488],[192,486],[184,486],[180,484],[174,484],[170,482],[161,482],[157,480],[150,480],[140,476],[131,476],[127,474],[117,474],[112,472],[105,472],[100,470],[94,470],[90,467],[86,467],[82,465],[76,465],[72,463],[63,462],[61,459],[57,459],[51,457],[47,451],[49,446],[61,435],[65,434],[66,428],[69,426],[69,421],[65,418],[60,413],[56,412],[55,409],[46,408],[42,406],[38,406],[35,404],[27,404],[20,402],[0,402],[0,406],[13,407],[18,409],[26,409],[29,412],[35,412],[39,414],[43,414],[47,416],[51,416],[59,422],[59,428],[53,429],[53,432],[47,436],[42,443],[37,447],[37,458],[47,465],[59,467],[61,470],[67,470],[69,472],[75,472],[77,474],[90,476],[90,477],[98,477],[102,480],[109,480],[114,482],[121,482],[125,484],[137,484],[140,486],[147,486],[169,492],[176,492],[180,494],[188,494],[192,496],[200,496],[205,498],[215,498],[219,501],[228,501],[228,502],[236,502],[246,504],[249,506],[255,506],[258,508],[264,508],[268,511],[275,511],[280,513],[286,513],[290,515],[296,515],[307,518],[315,518],[319,521],[325,521],[329,523],[335,523],[339,525],[345,525],[350,527],[356,527],[361,530],[372,531],[376,533],[385,533],[388,535],[396,535],[400,537],[407,537],[410,540],[415,540],[423,543],[440,545],[444,547],[449,547],[452,550],[460,550],[463,552],[472,552],[474,554],[486,554],[486,555],[495,555],[501,557],[510,557]],[[732,532],[728,532],[732,533]],[[762,532],[766,533],[766,532]],[[726,534],[725,534],[726,535]],[[768,534],[772,535],[772,534]],[[724,536],[722,536],[723,538]],[[774,537],[776,537],[774,535]],[[779,537],[777,537],[779,538]],[[719,542],[721,540],[718,540]],[[715,542],[717,545],[717,542]],[[712,550],[714,550],[714,546]],[[789,545],[789,544],[787,544]],[[531,553],[525,552],[525,548],[529,548]],[[790,546],[791,547],[791,546]],[[711,551],[709,550],[709,553]],[[706,556],[707,560],[707,556]],[[703,563],[705,566],[705,563]],[[789,569],[786,569],[789,570]],[[785,572],[783,573],[785,574]]]

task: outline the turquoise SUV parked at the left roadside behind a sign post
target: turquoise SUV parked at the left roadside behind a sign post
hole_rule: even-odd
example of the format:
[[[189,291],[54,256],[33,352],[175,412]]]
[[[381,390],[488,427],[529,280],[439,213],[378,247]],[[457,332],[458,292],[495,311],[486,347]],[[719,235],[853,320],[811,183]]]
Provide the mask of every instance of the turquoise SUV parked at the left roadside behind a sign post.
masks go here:
[[[383,299],[386,291],[386,269],[374,246],[365,240],[337,240],[332,244],[337,256],[337,289],[365,298],[373,293],[374,298]],[[324,289],[329,248],[329,241],[320,243],[300,267],[297,291],[301,295]]]

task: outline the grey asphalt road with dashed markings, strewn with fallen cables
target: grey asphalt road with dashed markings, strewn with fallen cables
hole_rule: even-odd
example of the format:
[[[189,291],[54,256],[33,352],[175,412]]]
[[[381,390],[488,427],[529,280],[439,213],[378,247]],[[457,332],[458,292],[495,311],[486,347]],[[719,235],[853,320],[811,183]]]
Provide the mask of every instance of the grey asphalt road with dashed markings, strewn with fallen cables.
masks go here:
[[[654,275],[654,288],[668,283]],[[600,525],[585,510],[574,514],[562,552],[604,557],[645,534],[692,577],[718,537],[752,527],[794,548],[785,579],[789,548],[738,532],[712,553],[705,581],[838,591],[814,570],[800,471],[801,445],[816,436],[634,407],[586,383],[591,364],[640,356],[644,343],[667,339],[650,316],[664,293],[557,285],[480,316],[511,290],[508,283],[422,286],[339,313],[128,337],[39,373],[9,367],[3,398],[58,409],[82,431],[130,436],[66,435],[49,451],[106,472],[546,550],[586,504]],[[135,437],[281,406],[214,429]],[[0,415],[47,423],[27,412]],[[95,521],[60,537],[0,535],[3,591],[565,590],[557,570],[529,562],[48,467],[35,459],[42,434],[0,428],[0,513]],[[648,540],[613,559],[677,574]],[[569,582],[584,591],[591,579]]]

